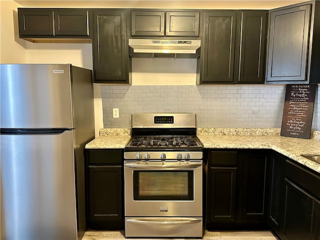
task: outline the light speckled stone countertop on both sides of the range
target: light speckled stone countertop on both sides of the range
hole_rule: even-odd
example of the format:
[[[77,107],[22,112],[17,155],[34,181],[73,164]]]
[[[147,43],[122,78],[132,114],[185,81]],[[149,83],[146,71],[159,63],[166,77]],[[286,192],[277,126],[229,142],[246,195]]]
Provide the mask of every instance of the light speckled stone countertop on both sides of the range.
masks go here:
[[[313,137],[316,134],[316,137]],[[279,129],[199,128],[197,137],[204,148],[273,149],[320,173],[320,164],[300,154],[320,154],[319,132],[311,139],[280,136]],[[124,148],[130,140],[129,129],[101,129],[100,136],[85,145],[87,149]]]

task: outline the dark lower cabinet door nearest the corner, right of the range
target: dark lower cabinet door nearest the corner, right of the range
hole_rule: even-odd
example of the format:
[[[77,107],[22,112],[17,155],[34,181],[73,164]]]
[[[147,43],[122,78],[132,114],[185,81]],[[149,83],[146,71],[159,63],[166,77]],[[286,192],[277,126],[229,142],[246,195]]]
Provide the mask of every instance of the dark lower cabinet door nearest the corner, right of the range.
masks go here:
[[[259,151],[244,153],[241,218],[264,221],[267,206],[267,166],[266,154]]]

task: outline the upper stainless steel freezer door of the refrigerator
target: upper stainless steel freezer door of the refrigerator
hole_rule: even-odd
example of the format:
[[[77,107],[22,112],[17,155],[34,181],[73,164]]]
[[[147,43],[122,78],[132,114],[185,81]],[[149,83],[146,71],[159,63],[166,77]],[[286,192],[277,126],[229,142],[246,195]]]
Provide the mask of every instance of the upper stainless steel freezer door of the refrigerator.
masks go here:
[[[1,128],[73,128],[70,64],[0,64]]]

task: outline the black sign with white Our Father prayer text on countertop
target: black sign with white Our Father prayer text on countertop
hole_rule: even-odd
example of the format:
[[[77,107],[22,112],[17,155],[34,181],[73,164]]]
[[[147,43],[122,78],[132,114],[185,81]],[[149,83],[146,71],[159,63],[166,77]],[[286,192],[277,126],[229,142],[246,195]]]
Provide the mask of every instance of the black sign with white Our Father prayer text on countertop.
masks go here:
[[[281,136],[310,138],[317,84],[287,84]]]

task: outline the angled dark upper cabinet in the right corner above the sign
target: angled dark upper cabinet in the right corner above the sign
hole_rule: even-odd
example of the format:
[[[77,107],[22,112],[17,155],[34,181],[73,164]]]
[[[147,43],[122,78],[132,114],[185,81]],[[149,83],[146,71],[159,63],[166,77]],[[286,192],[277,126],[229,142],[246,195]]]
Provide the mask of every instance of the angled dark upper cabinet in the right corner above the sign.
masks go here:
[[[320,83],[320,2],[269,11],[265,83]]]

